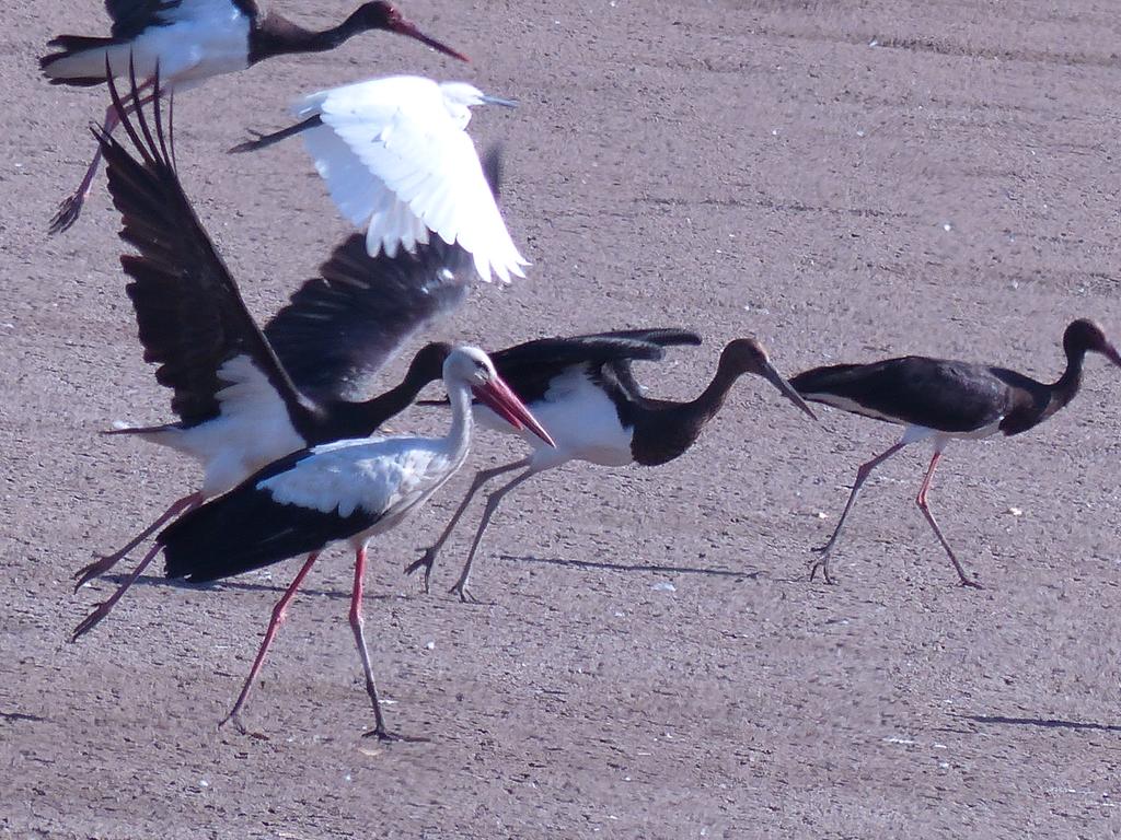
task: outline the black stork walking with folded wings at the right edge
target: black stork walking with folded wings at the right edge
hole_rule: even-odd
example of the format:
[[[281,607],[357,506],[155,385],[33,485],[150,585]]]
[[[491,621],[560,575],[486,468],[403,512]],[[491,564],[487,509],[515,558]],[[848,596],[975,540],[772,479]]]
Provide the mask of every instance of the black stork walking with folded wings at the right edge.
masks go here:
[[[934,469],[946,445],[955,438],[976,440],[997,433],[1019,435],[1064,408],[1082,385],[1082,364],[1086,353],[1100,353],[1121,367],[1121,355],[1092,320],[1071,323],[1063,334],[1063,351],[1066,370],[1053,383],[1037,382],[1004,367],[927,356],[828,365],[805,371],[791,379],[790,384],[807,400],[905,427],[898,444],[856,470],[856,480],[833,535],[815,549],[821,557],[813,563],[809,579],[813,580],[821,569],[825,581],[833,582],[830,554],[860,488],[872,470],[908,444],[933,440],[934,455],[915,503],[949,556],[962,586],[979,587],[965,573],[927,504]]]

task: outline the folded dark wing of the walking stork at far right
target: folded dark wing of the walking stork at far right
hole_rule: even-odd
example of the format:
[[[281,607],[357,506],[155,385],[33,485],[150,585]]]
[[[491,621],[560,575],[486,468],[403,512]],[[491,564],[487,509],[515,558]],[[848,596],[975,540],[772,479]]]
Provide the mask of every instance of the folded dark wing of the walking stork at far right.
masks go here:
[[[806,400],[941,431],[982,429],[1008,409],[1008,385],[988,367],[927,356],[814,367],[790,384]]]

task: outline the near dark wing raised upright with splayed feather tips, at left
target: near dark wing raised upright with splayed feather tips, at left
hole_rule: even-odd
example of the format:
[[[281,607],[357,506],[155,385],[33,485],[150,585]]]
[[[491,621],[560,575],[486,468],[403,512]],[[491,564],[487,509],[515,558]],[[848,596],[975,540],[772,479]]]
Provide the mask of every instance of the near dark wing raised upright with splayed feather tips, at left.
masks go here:
[[[112,81],[110,92],[123,113]],[[135,103],[135,77],[132,97]],[[155,133],[142,109],[137,110],[137,127],[127,116],[122,122],[139,159],[96,132],[109,192],[121,213],[120,236],[140,252],[121,256],[121,265],[132,278],[126,290],[136,310],[145,361],[160,365],[156,380],[173,389],[172,410],[188,426],[220,413],[217,392],[229,383],[219,371],[238,356],[249,357],[296,420],[304,410],[299,394],[183,193],[164,136],[158,84],[152,113]]]

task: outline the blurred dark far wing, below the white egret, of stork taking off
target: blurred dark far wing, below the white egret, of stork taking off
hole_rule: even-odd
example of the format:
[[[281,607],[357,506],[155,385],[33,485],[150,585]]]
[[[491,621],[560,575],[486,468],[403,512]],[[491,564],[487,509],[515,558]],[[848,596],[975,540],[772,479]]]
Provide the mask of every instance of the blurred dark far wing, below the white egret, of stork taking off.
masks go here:
[[[299,390],[318,400],[354,398],[414,335],[454,311],[474,272],[471,254],[433,236],[416,254],[365,251],[365,235],[343,242],[265,336]]]

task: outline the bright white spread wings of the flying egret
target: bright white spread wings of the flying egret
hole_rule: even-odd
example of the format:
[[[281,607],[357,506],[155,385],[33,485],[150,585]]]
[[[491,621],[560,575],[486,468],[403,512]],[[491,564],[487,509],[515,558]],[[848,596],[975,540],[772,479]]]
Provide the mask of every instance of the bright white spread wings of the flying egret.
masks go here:
[[[479,155],[439,86],[393,76],[313,94],[296,109],[323,124],[303,132],[332,198],[367,248],[392,256],[428,231],[471,253],[479,276],[503,282],[528,262],[510,239]]]

